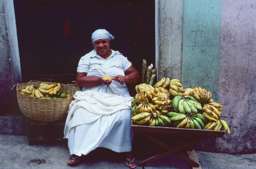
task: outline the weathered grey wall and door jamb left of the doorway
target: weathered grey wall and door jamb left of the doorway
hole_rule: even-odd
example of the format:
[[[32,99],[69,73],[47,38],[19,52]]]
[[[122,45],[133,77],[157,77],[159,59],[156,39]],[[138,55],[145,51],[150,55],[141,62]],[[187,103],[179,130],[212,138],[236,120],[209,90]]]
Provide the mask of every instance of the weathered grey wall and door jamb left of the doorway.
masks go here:
[[[0,42],[0,134],[20,134],[23,119],[11,90],[22,79],[13,1],[0,1]]]

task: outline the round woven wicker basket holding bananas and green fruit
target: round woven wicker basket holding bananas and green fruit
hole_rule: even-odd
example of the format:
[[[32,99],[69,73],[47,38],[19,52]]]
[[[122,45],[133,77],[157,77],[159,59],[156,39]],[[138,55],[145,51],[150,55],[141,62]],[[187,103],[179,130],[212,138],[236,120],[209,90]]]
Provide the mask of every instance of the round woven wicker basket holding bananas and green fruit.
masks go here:
[[[42,81],[30,81],[28,83],[17,84],[16,93],[20,111],[22,111],[26,117],[39,122],[54,122],[62,120],[67,116],[69,105],[71,101],[74,100],[73,95],[76,91],[80,91],[80,88],[77,85],[61,84],[61,92],[72,95],[72,97],[64,99],[37,98],[20,92],[20,90],[25,89],[28,85],[33,85],[35,83],[39,85],[41,82]]]

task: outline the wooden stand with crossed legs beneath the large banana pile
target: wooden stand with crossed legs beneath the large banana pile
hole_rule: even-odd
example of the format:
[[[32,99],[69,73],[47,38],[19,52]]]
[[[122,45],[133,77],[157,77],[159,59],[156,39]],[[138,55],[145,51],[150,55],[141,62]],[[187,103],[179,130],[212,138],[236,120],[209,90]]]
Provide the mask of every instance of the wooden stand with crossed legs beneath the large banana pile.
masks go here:
[[[138,162],[139,166],[144,166],[150,162],[153,162],[157,159],[165,157],[169,154],[174,154],[179,158],[183,159],[187,163],[191,165],[193,168],[201,168],[196,153],[193,148],[190,146],[200,142],[201,140],[208,137],[222,137],[226,131],[215,131],[215,130],[201,130],[201,129],[185,129],[185,128],[175,128],[175,127],[158,127],[158,126],[142,126],[142,125],[134,125],[132,124],[132,129],[134,133],[140,133],[145,137],[151,139],[154,143],[159,145],[164,149],[164,151],[160,154],[154,155],[150,158],[144,159]],[[174,136],[177,140],[176,147],[170,147],[167,144],[163,143],[161,140],[156,138],[154,134],[168,134],[170,136]],[[191,136],[191,139],[188,142],[184,142],[181,137],[182,136]],[[185,151],[187,155],[181,153],[181,151]]]

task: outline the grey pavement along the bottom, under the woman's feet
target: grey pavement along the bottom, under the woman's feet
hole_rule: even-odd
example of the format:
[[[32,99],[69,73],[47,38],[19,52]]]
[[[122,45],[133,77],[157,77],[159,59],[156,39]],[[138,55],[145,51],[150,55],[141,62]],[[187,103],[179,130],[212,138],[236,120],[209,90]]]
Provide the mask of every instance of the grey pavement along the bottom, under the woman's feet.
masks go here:
[[[158,153],[155,148],[137,149],[134,155],[138,161]],[[256,154],[230,155],[196,151],[202,168],[256,168]],[[0,135],[0,168],[128,168],[124,156],[108,149],[97,148],[75,166],[67,163],[70,157],[67,142],[34,143],[28,145],[27,136]],[[143,168],[137,166],[137,168]],[[144,168],[192,168],[175,155],[168,155],[146,164]]]

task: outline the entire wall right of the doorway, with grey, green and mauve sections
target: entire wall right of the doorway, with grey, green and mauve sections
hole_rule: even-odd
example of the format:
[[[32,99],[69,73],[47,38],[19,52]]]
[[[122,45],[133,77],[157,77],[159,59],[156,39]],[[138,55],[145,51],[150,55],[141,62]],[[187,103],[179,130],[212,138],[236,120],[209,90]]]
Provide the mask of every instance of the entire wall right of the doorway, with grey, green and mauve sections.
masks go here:
[[[224,105],[222,119],[227,121],[231,134],[225,134],[222,138],[203,140],[194,145],[197,150],[255,153],[256,2],[183,2],[182,4],[181,1],[159,1],[159,78],[167,74],[182,79],[185,87],[207,87],[209,91],[214,90],[215,100]],[[175,29],[173,26],[176,26]],[[180,30],[180,27],[183,27],[183,30]],[[195,42],[196,36],[190,36],[191,31],[195,30],[209,34],[204,39],[197,39],[203,40],[199,44],[201,46],[194,47],[194,50],[184,49],[190,46],[190,42]],[[196,38],[201,38],[199,35],[197,34]],[[183,39],[182,43],[180,38]],[[198,63],[191,57],[195,57]],[[206,62],[202,63],[200,60],[209,62],[212,71],[208,71]],[[190,66],[200,63],[202,65]],[[172,67],[173,71],[168,69],[169,67]],[[207,72],[210,74],[209,79],[200,83],[205,79]],[[201,75],[202,79],[195,79],[198,75]],[[210,81],[217,84],[211,84]]]

